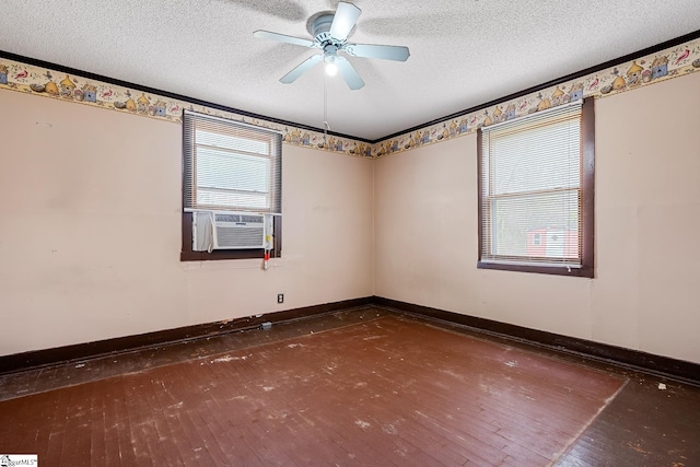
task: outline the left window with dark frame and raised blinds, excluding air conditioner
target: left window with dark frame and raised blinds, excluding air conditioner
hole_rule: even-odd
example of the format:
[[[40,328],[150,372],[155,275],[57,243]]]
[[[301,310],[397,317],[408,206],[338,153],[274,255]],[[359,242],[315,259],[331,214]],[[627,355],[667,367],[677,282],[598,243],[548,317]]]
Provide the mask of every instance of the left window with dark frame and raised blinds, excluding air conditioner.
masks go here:
[[[280,133],[185,112],[183,125],[182,260],[262,258],[261,248],[192,250],[198,210],[281,214]],[[272,257],[281,253],[282,221],[273,217]]]

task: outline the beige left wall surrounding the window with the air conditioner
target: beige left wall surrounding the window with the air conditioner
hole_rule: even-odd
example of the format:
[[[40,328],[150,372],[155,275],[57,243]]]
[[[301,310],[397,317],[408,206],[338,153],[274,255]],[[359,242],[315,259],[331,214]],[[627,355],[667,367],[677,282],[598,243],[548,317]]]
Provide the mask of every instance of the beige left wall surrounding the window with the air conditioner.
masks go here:
[[[179,125],[2,91],[0,131],[0,354],[373,292],[371,160],[284,147],[262,271],[179,261]]]

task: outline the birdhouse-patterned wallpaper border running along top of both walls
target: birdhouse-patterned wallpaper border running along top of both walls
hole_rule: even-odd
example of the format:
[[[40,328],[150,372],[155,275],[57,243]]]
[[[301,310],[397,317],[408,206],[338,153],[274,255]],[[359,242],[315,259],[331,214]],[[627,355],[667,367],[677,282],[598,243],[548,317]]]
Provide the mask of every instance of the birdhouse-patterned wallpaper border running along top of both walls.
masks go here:
[[[606,97],[700,71],[700,38],[657,54],[639,57],[596,73],[497,104],[458,118],[427,126],[374,144],[326,136],[319,131],[289,127],[265,119],[218,110],[109,83],[69,75],[32,65],[0,58],[0,90],[12,90],[68,102],[125,112],[174,122],[183,109],[200,112],[275,129],[287,144],[364,157],[382,157],[418,147],[471,133],[478,128],[533,114],[568,102]]]

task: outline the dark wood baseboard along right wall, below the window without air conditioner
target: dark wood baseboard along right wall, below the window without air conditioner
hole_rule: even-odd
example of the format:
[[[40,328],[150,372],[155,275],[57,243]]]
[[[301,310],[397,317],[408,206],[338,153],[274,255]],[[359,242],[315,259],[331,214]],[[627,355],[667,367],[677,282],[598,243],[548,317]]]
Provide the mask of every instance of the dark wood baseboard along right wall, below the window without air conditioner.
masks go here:
[[[545,347],[557,352],[573,353],[630,370],[642,371],[662,377],[669,377],[685,383],[700,385],[700,364],[698,363],[676,360],[669,357],[655,355],[653,353],[641,352],[607,343],[594,342],[586,339],[562,336],[544,330],[530,329],[492,319],[446,312],[444,310],[431,308],[429,306],[416,305],[382,296],[374,296],[373,303],[376,306],[393,308],[408,315],[466,326],[479,332],[497,335],[502,338]]]

